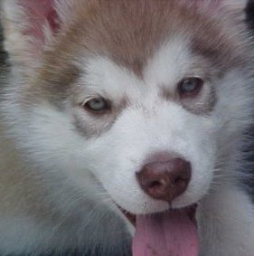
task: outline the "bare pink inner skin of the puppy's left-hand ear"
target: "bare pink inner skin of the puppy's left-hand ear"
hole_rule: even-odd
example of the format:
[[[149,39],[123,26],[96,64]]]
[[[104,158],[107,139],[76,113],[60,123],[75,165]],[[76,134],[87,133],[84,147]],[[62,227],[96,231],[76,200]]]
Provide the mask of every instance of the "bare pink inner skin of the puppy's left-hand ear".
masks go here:
[[[54,8],[54,0],[21,0],[24,13],[28,19],[29,29],[25,34],[44,42],[43,24],[48,23],[52,32],[59,29],[59,20]]]

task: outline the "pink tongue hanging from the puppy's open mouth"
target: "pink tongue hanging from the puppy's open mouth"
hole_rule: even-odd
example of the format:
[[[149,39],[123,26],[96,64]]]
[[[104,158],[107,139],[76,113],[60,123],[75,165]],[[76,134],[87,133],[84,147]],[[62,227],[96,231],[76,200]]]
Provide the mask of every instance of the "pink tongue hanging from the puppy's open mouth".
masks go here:
[[[133,256],[197,256],[197,227],[186,211],[136,217]]]

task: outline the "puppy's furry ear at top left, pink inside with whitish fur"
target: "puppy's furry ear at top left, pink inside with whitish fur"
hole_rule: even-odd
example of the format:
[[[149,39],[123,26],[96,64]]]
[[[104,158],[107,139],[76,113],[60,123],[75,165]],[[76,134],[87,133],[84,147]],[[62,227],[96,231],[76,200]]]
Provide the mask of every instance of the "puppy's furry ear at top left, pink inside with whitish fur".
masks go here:
[[[33,66],[68,22],[73,0],[2,0],[5,50],[11,62]]]

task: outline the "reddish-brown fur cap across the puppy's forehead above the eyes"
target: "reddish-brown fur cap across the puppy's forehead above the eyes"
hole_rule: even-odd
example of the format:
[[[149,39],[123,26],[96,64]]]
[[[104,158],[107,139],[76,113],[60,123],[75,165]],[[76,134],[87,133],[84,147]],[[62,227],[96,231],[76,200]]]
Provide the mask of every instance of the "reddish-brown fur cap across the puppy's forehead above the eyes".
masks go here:
[[[190,48],[194,56],[210,60],[209,70],[223,73],[233,67],[232,63],[242,63],[238,34],[232,39],[223,22],[215,24],[211,17],[196,14],[195,8],[179,5],[176,0],[76,1],[72,23],[42,54],[39,75],[30,84],[43,84],[37,92],[33,88],[33,94],[39,98],[43,94],[56,104],[67,97],[80,74],[71,62],[77,62],[73,58],[80,54],[104,55],[142,78],[149,58],[177,33],[187,37],[189,32],[194,34]],[[28,97],[31,98],[30,93]]]

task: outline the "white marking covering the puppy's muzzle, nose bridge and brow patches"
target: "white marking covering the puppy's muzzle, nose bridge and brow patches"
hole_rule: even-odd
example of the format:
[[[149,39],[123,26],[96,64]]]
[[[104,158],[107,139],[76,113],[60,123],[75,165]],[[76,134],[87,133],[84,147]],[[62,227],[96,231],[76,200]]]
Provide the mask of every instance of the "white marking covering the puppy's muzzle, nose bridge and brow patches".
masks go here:
[[[89,171],[112,199],[129,212],[154,213],[168,208],[167,203],[146,195],[136,180],[136,172],[146,164],[147,156],[158,152],[177,154],[192,165],[191,183],[174,200],[174,207],[196,203],[212,182],[215,156],[212,120],[158,96],[158,85],[166,84],[175,90],[177,82],[193,72],[187,43],[184,38],[165,43],[149,60],[144,80],[127,68],[97,57],[86,61],[85,75],[78,82],[85,91],[80,100],[90,94],[108,97],[113,103],[124,97],[130,102],[108,131],[86,142],[83,152]]]

